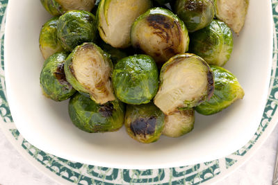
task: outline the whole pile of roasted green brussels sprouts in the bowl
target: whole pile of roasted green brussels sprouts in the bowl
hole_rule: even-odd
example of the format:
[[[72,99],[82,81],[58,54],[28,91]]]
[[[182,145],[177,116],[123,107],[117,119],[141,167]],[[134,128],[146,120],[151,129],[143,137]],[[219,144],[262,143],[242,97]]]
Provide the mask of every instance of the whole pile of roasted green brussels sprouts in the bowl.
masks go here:
[[[126,132],[142,143],[193,130],[243,98],[222,66],[248,0],[40,0],[40,85],[85,132]],[[193,54],[194,53],[194,54]]]

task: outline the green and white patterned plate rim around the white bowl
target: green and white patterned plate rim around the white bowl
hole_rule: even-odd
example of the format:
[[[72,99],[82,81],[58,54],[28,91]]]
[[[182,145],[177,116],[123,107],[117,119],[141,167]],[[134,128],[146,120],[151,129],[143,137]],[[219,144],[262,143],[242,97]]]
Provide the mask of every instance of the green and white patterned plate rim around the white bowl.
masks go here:
[[[8,0],[0,0],[0,22],[5,21],[6,6]],[[275,45],[273,51],[272,78],[268,103],[265,106],[261,123],[253,138],[240,150],[222,159],[209,161],[192,166],[181,166],[179,168],[163,168],[155,170],[126,170],[116,168],[104,168],[91,166],[88,164],[75,163],[50,155],[28,143],[15,128],[13,118],[10,114],[8,102],[6,100],[6,87],[4,79],[3,65],[3,39],[5,25],[1,24],[1,67],[0,67],[0,127],[12,125],[8,132],[13,136],[17,145],[24,149],[35,161],[35,165],[43,166],[45,173],[56,174],[57,177],[72,182],[74,184],[202,184],[210,179],[220,176],[227,169],[231,169],[238,164],[240,159],[248,154],[250,149],[259,141],[265,129],[268,127],[273,115],[277,111],[278,105],[278,67],[277,67],[277,42],[278,36],[278,0],[272,0],[273,19],[275,21]],[[1,120],[0,119],[0,120]],[[52,175],[52,176],[53,176]],[[56,178],[57,179],[57,178]]]

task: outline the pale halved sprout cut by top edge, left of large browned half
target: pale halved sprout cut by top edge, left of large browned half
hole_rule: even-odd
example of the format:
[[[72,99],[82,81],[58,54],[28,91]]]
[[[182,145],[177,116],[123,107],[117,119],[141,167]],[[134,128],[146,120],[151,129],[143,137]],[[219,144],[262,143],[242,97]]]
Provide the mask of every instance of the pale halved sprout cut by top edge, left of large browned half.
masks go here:
[[[115,48],[130,46],[133,21],[151,7],[150,0],[102,0],[97,9],[99,35]]]

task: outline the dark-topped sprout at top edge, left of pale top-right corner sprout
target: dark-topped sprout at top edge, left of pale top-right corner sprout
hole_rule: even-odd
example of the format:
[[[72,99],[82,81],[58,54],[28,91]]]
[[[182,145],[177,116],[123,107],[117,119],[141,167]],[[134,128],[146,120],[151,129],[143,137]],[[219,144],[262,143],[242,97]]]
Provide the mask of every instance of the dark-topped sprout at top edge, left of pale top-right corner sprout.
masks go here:
[[[189,32],[208,26],[214,17],[213,0],[177,0],[174,12],[183,20]]]

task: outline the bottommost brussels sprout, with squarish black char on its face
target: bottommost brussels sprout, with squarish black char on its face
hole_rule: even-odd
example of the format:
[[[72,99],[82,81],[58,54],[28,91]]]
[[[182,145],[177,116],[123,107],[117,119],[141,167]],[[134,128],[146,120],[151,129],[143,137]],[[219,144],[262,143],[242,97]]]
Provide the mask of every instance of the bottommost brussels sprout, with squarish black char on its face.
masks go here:
[[[136,141],[152,143],[161,136],[165,115],[154,103],[127,105],[124,125],[126,132]]]

